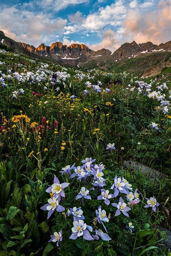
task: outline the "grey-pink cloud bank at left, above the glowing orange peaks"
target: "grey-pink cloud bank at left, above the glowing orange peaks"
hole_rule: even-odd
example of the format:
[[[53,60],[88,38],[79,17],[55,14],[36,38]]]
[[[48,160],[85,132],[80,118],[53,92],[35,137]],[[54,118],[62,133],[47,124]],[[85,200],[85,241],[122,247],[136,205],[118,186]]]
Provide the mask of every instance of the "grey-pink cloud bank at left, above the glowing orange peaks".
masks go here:
[[[0,10],[0,27],[5,35],[35,47],[42,42],[51,42],[57,33],[63,34],[66,23],[66,19],[52,19],[51,14],[35,14],[15,6]]]

